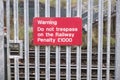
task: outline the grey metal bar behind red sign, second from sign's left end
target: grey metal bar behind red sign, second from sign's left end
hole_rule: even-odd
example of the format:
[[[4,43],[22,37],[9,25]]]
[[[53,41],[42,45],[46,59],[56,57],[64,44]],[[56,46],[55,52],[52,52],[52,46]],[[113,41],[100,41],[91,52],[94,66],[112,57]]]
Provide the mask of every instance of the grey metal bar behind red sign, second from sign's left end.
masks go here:
[[[45,0],[45,17],[50,17],[50,0]],[[46,46],[46,80],[50,80],[50,46]]]

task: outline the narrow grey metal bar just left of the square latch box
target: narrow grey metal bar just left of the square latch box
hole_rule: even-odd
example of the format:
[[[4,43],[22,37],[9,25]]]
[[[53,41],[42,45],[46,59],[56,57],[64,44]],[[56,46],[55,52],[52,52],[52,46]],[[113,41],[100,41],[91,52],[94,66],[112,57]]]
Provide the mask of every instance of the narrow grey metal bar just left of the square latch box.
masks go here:
[[[10,40],[10,0],[6,1],[6,27],[7,27],[7,78],[11,80],[10,70],[10,51],[9,51],[9,40]]]

